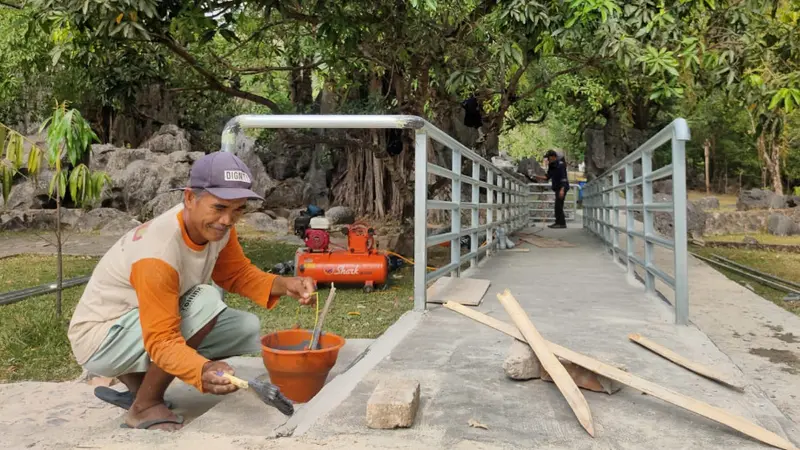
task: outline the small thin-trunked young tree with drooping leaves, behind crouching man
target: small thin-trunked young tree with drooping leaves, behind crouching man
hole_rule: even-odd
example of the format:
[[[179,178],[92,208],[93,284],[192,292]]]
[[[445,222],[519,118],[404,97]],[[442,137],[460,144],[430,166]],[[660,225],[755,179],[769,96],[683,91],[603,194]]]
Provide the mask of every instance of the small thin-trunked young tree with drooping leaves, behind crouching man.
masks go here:
[[[62,230],[61,230],[61,202],[67,192],[72,200],[80,206],[86,206],[96,201],[106,184],[111,180],[108,174],[101,171],[91,171],[82,162],[89,146],[97,141],[97,135],[92,131],[89,123],[76,109],[67,109],[65,103],[59,104],[52,116],[42,124],[41,130],[47,128],[47,149],[45,156],[47,163],[53,169],[53,178],[50,180],[48,193],[56,201],[56,316],[61,318],[61,286],[63,281],[62,258]],[[69,165],[64,166],[66,157]],[[34,170],[31,170],[31,168]],[[29,172],[36,173],[41,164],[34,163],[28,166]]]

